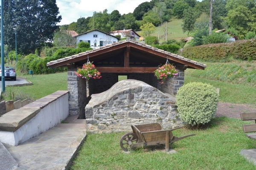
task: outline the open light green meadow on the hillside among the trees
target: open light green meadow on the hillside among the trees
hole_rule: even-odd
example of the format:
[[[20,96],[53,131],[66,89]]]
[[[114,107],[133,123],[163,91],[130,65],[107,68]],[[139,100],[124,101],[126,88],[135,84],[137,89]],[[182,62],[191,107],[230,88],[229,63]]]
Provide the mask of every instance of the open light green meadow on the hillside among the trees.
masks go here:
[[[168,23],[167,23],[167,40],[175,39],[177,41],[180,41],[182,38],[187,38],[188,35],[186,33],[183,33],[182,31],[182,20],[177,19],[176,17],[173,17]],[[155,31],[151,36],[158,37],[159,32],[159,42],[165,41],[165,32],[166,29],[166,23],[163,23],[159,27],[155,27]],[[142,31],[137,31],[137,33],[140,35]]]

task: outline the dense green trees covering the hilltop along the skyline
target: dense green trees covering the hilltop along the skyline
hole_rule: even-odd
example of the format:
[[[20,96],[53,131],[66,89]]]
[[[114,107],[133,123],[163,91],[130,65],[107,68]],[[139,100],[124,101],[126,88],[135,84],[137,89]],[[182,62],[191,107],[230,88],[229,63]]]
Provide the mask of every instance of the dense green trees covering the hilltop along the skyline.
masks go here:
[[[212,29],[229,29],[243,39],[246,34],[256,31],[255,0],[212,0]],[[121,15],[118,10],[94,12],[92,17],[81,17],[77,22],[61,26],[81,34],[93,28],[105,32],[134,29],[143,24],[159,26],[171,17],[183,19],[183,31],[194,32],[209,27],[210,1],[203,0],[151,0],[141,3],[133,13]],[[93,21],[94,18],[94,21]],[[104,18],[104,20],[102,20]],[[93,27],[94,26],[94,27]],[[209,29],[209,28],[208,28]]]

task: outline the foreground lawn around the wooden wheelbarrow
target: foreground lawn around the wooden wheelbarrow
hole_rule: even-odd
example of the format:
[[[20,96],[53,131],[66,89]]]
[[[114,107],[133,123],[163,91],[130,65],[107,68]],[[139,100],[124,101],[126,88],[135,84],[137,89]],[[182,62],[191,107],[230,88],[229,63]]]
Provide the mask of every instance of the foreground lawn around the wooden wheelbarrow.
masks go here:
[[[241,170],[255,169],[239,153],[256,147],[247,138],[239,119],[216,118],[199,130],[179,129],[174,136],[195,136],[172,144],[177,153],[168,154],[164,147],[148,146],[123,153],[119,140],[125,133],[88,134],[73,162],[72,170]]]

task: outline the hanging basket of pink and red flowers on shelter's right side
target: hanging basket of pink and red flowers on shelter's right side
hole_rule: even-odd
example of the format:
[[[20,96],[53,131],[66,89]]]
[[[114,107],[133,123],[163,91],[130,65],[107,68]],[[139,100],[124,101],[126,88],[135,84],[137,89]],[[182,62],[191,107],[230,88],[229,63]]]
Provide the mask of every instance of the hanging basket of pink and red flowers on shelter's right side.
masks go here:
[[[178,71],[170,63],[166,63],[165,65],[160,66],[154,71],[155,77],[160,80],[160,83],[163,84],[164,80],[167,77],[176,77],[178,75]]]

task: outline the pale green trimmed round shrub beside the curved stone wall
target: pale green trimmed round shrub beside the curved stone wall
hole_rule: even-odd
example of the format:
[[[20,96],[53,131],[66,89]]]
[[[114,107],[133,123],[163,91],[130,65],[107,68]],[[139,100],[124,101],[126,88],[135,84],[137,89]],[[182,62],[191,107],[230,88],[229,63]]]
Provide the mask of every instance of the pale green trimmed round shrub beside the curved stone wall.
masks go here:
[[[183,85],[176,95],[180,119],[191,126],[208,123],[215,117],[218,97],[212,85],[202,82]]]

